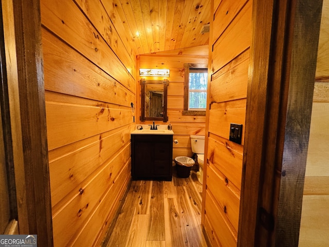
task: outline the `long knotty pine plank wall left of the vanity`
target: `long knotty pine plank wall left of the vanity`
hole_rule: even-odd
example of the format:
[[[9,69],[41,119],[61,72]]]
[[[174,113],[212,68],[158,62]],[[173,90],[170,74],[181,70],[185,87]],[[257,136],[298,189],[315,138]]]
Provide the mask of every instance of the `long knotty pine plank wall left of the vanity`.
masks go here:
[[[136,55],[113,11],[41,1],[54,246],[99,245],[131,178]]]

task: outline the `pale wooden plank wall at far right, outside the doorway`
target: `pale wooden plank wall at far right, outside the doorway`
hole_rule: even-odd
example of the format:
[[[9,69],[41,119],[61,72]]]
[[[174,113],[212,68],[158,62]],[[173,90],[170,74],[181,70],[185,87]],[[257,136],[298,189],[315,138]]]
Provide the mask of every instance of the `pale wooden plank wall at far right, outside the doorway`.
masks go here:
[[[329,244],[329,1],[323,1],[299,246]]]

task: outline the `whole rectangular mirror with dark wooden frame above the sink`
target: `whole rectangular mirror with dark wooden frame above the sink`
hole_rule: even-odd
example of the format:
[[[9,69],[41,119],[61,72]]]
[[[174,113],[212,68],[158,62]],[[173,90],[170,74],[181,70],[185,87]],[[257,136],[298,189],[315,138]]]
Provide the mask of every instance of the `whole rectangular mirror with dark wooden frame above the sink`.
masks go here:
[[[169,81],[141,79],[141,116],[140,121],[168,121],[167,88]]]

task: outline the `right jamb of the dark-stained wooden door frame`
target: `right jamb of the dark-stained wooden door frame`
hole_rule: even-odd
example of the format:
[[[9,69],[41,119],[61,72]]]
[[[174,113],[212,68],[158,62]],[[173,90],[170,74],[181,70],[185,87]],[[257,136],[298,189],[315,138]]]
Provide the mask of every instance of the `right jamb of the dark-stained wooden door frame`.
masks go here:
[[[238,246],[298,246],[322,0],[253,0]]]

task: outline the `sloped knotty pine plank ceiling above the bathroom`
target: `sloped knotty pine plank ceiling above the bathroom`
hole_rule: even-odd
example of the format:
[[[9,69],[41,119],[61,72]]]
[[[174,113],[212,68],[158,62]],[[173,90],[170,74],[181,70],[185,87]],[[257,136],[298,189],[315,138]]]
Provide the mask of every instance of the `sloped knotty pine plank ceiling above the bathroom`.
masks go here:
[[[209,0],[114,0],[113,8],[111,19],[122,22],[137,55],[209,43],[209,32],[200,33],[210,22]]]

